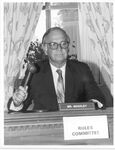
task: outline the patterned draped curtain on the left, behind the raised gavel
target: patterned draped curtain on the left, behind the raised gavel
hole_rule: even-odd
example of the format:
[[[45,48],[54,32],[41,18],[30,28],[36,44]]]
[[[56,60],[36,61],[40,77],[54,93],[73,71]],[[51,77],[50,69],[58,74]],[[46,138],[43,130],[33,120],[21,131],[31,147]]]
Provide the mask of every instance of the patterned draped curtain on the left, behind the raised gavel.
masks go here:
[[[4,3],[5,109],[39,20],[42,3]]]

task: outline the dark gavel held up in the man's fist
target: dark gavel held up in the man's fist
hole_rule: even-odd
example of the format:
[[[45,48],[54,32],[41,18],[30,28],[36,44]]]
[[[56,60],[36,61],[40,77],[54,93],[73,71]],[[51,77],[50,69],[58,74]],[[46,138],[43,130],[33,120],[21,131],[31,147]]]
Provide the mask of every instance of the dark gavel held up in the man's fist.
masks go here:
[[[28,72],[27,72],[27,75],[26,75],[25,80],[23,82],[23,85],[22,85],[23,87],[26,87],[26,85],[28,84],[28,82],[30,80],[31,75],[33,73],[37,72],[37,68],[32,63],[28,63],[27,69],[28,69]]]

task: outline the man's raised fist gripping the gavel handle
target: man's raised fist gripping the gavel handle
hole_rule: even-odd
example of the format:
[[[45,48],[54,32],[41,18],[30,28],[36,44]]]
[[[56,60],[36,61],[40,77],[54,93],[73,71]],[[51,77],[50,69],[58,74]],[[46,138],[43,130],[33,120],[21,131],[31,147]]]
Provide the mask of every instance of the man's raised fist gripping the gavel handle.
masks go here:
[[[19,88],[14,92],[13,102],[16,107],[20,106],[23,103],[23,101],[27,98],[27,88],[27,86],[19,86]]]

